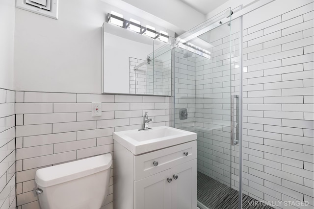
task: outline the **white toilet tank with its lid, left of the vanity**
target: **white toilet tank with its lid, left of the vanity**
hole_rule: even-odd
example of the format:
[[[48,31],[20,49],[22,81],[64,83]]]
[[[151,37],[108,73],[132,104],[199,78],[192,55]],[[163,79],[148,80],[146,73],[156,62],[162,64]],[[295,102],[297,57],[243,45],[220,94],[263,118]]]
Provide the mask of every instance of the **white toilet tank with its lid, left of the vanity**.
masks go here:
[[[41,209],[100,209],[108,192],[111,154],[36,171]]]

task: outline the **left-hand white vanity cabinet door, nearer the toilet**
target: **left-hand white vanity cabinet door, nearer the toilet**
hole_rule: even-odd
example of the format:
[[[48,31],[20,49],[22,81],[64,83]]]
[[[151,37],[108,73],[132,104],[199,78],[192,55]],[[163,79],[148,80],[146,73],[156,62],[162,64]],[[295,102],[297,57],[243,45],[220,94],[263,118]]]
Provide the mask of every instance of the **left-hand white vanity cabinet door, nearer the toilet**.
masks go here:
[[[134,209],[171,208],[171,169],[134,182]],[[172,179],[173,181],[173,179]]]

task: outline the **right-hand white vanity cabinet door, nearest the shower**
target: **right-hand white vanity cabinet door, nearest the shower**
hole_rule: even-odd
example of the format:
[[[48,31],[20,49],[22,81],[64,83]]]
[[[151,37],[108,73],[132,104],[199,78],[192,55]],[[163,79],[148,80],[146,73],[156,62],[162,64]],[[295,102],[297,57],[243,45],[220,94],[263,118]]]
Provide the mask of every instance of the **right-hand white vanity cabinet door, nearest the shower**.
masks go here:
[[[197,208],[196,159],[171,168],[171,209]]]

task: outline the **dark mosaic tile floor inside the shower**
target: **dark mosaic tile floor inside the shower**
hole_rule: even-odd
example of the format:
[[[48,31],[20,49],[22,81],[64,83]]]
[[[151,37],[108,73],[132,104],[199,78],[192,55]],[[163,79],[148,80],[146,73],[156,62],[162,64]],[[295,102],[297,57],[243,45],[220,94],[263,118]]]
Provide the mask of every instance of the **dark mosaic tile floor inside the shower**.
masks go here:
[[[238,191],[210,178],[209,176],[197,172],[197,200],[208,209],[237,209]],[[231,200],[230,200],[230,197]],[[257,204],[252,206],[256,199],[243,194],[243,209],[274,209],[270,206]]]

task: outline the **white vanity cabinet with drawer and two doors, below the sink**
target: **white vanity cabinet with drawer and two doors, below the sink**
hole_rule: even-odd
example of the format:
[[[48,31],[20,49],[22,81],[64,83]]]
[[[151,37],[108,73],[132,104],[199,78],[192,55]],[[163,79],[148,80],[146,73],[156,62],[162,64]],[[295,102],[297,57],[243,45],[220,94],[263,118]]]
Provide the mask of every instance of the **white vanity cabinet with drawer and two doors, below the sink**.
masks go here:
[[[133,155],[114,140],[114,209],[196,209],[196,140]]]

